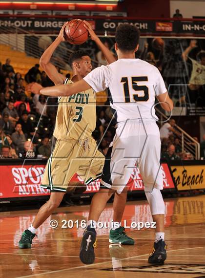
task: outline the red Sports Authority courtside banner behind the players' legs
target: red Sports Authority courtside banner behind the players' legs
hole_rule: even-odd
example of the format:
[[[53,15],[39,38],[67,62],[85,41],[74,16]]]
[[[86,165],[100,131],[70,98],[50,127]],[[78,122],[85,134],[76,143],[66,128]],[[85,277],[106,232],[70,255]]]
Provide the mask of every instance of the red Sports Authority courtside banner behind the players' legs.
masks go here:
[[[28,162],[27,162],[28,164]],[[164,189],[174,189],[169,167],[166,163],[162,164]],[[19,197],[37,197],[49,195],[50,191],[41,188],[41,179],[43,176],[45,163],[34,165],[0,165],[0,198],[19,198]],[[72,183],[82,182],[82,179],[75,174],[71,180]],[[139,169],[135,169],[127,184],[129,191],[143,191],[143,180]],[[86,193],[98,192],[100,188],[100,179],[87,186]]]

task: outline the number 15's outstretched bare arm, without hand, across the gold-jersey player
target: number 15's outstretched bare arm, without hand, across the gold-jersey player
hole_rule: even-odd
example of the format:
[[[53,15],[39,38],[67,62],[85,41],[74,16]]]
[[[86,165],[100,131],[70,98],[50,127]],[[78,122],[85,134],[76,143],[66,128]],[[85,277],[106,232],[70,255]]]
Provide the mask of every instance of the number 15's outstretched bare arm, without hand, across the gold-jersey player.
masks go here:
[[[45,96],[53,96],[53,97],[65,97],[75,95],[79,92],[90,89],[91,86],[87,84],[83,79],[70,84],[70,85],[59,85],[42,88],[40,90],[40,94]]]

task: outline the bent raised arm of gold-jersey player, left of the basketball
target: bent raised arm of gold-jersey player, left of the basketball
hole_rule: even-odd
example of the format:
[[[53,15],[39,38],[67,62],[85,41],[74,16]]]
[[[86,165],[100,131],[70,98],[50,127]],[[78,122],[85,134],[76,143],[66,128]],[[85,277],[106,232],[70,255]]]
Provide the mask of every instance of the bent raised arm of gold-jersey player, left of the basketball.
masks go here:
[[[51,45],[44,51],[40,59],[40,65],[48,75],[48,77],[54,82],[55,85],[63,84],[65,76],[58,72],[55,65],[51,64],[50,60],[55,49],[61,42],[64,42],[63,30],[67,22],[62,26],[62,29]]]

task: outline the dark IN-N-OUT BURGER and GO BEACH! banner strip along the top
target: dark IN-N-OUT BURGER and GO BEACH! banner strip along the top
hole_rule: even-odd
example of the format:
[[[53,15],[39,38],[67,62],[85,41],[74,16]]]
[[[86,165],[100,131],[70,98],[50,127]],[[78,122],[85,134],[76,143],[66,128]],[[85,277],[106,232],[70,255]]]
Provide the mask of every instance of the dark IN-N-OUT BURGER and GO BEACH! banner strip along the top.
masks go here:
[[[62,25],[71,20],[69,18],[38,18],[36,17],[5,17],[0,15],[0,27],[14,26],[34,33],[58,33]],[[97,33],[108,31],[114,34],[117,26],[123,22],[136,25],[141,30],[141,35],[153,34],[193,34],[205,37],[205,21],[163,21],[163,20],[112,20],[112,19],[86,19]],[[3,33],[4,28],[0,28]]]

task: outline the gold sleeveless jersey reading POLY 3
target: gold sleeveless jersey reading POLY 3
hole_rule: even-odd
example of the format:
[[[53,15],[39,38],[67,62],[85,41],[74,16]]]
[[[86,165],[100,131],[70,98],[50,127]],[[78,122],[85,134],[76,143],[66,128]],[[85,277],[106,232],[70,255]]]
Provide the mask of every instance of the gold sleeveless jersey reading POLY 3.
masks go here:
[[[66,79],[64,84],[72,84]],[[91,137],[96,127],[96,95],[93,89],[59,97],[54,136],[63,141]]]

